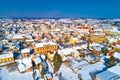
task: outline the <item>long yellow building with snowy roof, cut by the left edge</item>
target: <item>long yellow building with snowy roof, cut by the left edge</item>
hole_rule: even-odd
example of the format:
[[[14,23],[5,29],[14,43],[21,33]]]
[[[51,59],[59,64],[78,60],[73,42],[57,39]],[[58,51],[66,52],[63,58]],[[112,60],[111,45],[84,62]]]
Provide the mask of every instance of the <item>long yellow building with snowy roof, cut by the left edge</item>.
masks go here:
[[[0,55],[0,64],[6,62],[12,62],[12,61],[14,61],[14,57],[12,53]]]

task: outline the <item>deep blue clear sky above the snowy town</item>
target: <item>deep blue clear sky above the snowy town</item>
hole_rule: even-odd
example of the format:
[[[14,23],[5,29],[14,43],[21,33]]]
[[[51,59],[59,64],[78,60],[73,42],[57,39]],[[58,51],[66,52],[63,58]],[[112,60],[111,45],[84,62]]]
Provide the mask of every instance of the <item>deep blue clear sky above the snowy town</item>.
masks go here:
[[[0,17],[120,18],[120,0],[0,0]]]

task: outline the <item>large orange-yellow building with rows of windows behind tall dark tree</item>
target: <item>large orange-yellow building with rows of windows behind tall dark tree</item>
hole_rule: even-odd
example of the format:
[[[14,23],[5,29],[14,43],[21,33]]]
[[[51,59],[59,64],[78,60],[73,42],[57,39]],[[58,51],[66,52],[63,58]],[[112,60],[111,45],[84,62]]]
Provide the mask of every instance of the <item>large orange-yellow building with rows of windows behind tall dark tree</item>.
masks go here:
[[[47,54],[49,51],[57,51],[58,46],[56,43],[48,42],[48,43],[37,43],[33,46],[35,53],[38,54]]]

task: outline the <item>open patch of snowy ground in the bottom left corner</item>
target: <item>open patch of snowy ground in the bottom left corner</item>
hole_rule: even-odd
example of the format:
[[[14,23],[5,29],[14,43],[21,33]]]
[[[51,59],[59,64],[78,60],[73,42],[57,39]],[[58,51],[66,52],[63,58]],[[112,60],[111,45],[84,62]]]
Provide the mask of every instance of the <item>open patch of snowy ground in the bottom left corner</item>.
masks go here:
[[[11,72],[9,73],[6,68],[0,71],[0,80],[33,80],[32,72],[28,73],[18,73]]]

